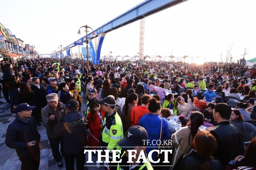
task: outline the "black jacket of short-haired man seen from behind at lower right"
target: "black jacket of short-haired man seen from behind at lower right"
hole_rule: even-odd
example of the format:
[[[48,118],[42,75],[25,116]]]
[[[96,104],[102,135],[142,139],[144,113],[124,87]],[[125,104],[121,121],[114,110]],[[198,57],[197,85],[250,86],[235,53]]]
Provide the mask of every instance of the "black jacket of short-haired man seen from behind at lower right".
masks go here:
[[[210,133],[217,140],[217,148],[214,151],[213,157],[220,160],[223,167],[230,160],[234,160],[236,156],[243,155],[243,135],[230,122],[218,123]]]

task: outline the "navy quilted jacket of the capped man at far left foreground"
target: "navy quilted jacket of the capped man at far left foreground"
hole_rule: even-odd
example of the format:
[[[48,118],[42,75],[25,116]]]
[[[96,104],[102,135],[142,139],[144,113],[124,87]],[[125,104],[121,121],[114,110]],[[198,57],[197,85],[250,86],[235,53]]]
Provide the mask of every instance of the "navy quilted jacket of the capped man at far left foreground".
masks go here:
[[[16,116],[16,119],[7,128],[5,139],[6,146],[16,149],[19,157],[28,156],[39,147],[40,134],[36,128],[36,122],[32,116],[27,119],[26,123],[24,120]],[[28,142],[32,142],[34,140],[37,141],[36,145],[27,147]]]

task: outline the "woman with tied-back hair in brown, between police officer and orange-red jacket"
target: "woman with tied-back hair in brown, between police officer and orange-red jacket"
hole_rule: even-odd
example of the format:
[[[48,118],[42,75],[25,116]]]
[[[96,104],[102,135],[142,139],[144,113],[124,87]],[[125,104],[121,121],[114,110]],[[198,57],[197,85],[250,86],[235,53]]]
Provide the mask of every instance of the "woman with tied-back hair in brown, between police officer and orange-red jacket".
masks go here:
[[[138,94],[132,93],[129,96],[125,98],[125,104],[123,108],[123,115],[124,115],[124,124],[125,124],[125,129],[127,130],[130,125],[130,114],[132,111],[132,108],[135,107],[135,105],[138,103]]]

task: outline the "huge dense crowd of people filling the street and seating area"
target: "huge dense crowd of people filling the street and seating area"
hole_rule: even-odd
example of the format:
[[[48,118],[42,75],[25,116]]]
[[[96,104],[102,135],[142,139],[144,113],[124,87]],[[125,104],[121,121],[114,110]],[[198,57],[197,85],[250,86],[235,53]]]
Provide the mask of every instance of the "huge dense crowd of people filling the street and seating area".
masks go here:
[[[39,167],[36,126],[41,124],[58,168],[63,167],[64,156],[66,169],[74,169],[75,160],[77,169],[84,169],[84,147],[89,146],[102,152],[122,149],[121,163],[103,163],[110,170],[256,169],[256,139],[245,155],[243,145],[244,121],[256,120],[256,68],[240,62],[101,63],[86,68],[80,60],[2,61],[1,90],[10,112],[17,114],[8,127],[6,146],[16,149],[22,169]],[[81,109],[83,104],[86,110]],[[169,121],[176,115],[182,126],[178,130]],[[211,127],[209,132],[200,130],[202,125]],[[148,155],[158,148],[152,141],[170,139],[173,154],[168,166],[125,162],[127,150]],[[156,152],[151,156],[157,160]]]

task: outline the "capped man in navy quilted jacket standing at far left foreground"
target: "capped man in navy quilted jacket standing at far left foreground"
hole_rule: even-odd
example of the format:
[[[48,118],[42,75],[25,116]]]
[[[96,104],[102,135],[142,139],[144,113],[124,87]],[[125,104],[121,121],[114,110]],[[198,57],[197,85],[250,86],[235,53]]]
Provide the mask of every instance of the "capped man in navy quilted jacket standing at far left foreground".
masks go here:
[[[31,116],[36,106],[19,104],[15,112],[16,119],[8,126],[5,144],[16,149],[21,161],[21,170],[38,170],[40,164],[40,134],[36,122]]]

